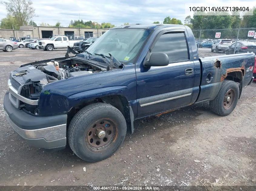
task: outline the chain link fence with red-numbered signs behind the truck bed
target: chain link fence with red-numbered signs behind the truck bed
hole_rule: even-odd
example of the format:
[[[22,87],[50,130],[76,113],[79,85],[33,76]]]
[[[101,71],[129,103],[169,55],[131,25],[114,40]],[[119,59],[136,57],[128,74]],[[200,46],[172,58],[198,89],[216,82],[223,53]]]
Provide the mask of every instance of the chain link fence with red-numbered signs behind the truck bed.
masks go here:
[[[198,46],[211,52],[235,54],[254,52],[256,54],[256,28],[192,30]],[[255,47],[253,47],[255,46]]]

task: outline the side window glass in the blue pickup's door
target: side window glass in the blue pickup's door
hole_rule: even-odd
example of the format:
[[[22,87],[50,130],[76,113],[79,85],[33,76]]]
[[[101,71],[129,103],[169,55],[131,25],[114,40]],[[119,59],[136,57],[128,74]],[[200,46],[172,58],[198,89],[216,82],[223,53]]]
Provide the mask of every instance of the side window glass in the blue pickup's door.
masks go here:
[[[188,46],[184,33],[165,33],[155,43],[151,53],[165,53],[169,62],[188,60]]]

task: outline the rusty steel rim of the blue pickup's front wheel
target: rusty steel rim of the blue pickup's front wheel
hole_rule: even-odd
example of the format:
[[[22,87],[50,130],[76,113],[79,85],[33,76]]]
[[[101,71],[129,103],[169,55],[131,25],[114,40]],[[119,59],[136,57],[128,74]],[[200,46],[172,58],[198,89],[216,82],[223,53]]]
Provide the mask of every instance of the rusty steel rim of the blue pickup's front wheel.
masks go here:
[[[85,143],[91,151],[102,152],[111,147],[118,136],[118,128],[112,119],[104,118],[90,126]]]

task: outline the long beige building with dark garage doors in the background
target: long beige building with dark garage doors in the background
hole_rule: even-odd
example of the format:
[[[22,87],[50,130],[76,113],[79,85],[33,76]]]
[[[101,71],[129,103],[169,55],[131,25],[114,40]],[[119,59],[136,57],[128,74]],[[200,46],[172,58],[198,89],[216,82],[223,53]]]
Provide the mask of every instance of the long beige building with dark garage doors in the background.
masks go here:
[[[68,35],[71,40],[76,37],[100,37],[108,29],[100,28],[75,28],[75,27],[34,27],[21,26],[20,30],[0,29],[0,37],[9,39],[9,37],[30,37],[30,38],[50,38],[55,35]]]

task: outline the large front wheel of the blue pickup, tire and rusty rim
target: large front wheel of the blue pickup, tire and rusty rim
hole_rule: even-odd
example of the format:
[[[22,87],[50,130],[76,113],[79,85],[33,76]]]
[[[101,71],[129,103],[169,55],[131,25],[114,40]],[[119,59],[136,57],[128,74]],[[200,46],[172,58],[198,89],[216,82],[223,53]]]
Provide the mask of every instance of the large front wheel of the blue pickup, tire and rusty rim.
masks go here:
[[[76,113],[68,127],[71,150],[88,162],[110,157],[120,147],[125,135],[125,117],[117,108],[107,103],[94,103],[84,107]]]

